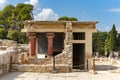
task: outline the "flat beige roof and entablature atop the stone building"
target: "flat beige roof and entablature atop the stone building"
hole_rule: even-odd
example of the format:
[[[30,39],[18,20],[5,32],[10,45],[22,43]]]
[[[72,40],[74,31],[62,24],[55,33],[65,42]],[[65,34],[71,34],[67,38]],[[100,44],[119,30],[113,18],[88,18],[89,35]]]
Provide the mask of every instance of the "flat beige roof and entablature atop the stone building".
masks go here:
[[[96,30],[97,21],[24,21],[22,32],[65,32],[66,24],[71,23],[73,31],[79,32],[80,29]]]

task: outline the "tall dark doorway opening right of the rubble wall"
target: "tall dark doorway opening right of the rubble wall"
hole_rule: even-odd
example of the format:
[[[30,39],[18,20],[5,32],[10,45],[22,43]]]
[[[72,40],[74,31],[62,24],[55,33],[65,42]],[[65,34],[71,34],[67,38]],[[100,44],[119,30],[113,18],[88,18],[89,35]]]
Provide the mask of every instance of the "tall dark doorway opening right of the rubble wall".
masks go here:
[[[73,44],[73,69],[85,69],[85,44]]]

